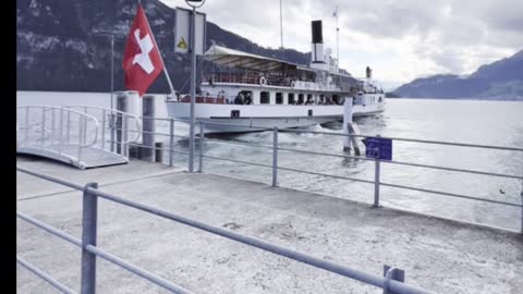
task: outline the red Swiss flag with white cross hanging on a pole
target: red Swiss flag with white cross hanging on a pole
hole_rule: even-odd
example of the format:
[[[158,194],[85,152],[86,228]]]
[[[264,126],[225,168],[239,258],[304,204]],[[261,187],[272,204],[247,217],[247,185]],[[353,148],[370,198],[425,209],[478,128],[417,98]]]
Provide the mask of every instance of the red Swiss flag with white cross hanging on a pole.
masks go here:
[[[137,90],[141,97],[163,70],[163,61],[142,4],[138,4],[129,32],[122,66],[125,72],[125,87]]]

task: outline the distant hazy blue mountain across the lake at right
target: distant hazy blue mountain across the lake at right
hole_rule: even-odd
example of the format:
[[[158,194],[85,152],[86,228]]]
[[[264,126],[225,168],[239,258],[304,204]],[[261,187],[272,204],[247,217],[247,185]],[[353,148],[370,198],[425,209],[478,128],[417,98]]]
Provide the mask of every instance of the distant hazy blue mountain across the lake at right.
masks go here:
[[[406,98],[523,100],[523,50],[482,65],[467,77],[448,74],[416,78],[394,94]]]

